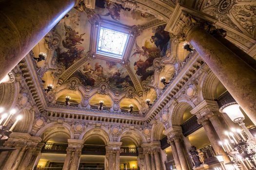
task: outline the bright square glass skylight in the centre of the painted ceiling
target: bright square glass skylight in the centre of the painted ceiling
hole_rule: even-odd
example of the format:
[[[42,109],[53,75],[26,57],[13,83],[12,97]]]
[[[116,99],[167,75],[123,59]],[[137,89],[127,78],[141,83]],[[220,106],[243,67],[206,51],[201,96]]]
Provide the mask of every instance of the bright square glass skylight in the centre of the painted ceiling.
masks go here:
[[[103,32],[101,32],[101,31],[103,31]],[[104,48],[104,46],[103,46],[104,45],[104,38],[105,38],[104,34],[106,32],[108,32],[110,34],[117,34],[117,35],[119,34],[119,36],[123,36],[122,37],[123,41],[122,41],[120,47],[118,48],[118,50],[114,50],[114,51],[117,51],[116,53],[115,52],[110,52],[111,48],[109,48],[109,47]],[[102,38],[103,39],[100,40],[100,34],[101,33],[102,33]],[[124,56],[124,53],[126,51],[128,41],[129,41],[129,34],[128,33],[122,32],[120,30],[110,29],[108,27],[100,26],[99,30],[98,30],[96,51],[97,51],[98,54],[101,54],[101,55],[106,55],[106,56],[109,56],[109,57],[122,59],[123,56]],[[107,43],[109,44],[109,42],[107,42]],[[105,43],[105,44],[107,44],[107,43]],[[115,43],[115,42],[113,42],[113,43]],[[99,47],[99,45],[100,45],[100,47]]]

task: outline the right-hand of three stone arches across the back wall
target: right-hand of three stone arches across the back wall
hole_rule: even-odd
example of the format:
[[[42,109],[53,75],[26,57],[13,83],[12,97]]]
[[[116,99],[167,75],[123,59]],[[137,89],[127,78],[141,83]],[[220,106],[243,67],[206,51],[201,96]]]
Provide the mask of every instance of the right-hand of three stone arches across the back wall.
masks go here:
[[[118,136],[118,142],[120,142],[121,138],[128,137],[133,138],[134,143],[136,146],[140,146],[142,143],[146,143],[147,140],[145,136],[138,130],[138,129],[124,129],[121,134]]]

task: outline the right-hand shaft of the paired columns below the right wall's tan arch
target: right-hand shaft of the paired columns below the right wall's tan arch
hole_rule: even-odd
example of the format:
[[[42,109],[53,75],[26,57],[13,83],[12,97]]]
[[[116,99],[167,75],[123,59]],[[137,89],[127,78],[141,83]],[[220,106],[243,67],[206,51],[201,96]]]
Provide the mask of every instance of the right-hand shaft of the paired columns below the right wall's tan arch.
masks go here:
[[[189,170],[187,160],[186,160],[185,154],[183,152],[183,147],[184,146],[182,145],[182,141],[180,139],[180,136],[175,136],[174,137],[174,142],[175,142],[175,145],[176,145],[176,149],[177,149],[181,169],[182,170]]]

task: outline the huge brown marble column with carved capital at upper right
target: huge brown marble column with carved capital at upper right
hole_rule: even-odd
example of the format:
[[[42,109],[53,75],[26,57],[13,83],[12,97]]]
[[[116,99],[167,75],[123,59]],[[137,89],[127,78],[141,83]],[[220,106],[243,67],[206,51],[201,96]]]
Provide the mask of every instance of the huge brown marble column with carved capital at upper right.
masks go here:
[[[211,35],[216,30],[221,31],[211,24],[216,22],[215,18],[181,5],[174,11],[165,30],[176,34],[177,38],[187,39],[256,124],[256,70],[247,64],[248,60],[239,58],[234,49]]]

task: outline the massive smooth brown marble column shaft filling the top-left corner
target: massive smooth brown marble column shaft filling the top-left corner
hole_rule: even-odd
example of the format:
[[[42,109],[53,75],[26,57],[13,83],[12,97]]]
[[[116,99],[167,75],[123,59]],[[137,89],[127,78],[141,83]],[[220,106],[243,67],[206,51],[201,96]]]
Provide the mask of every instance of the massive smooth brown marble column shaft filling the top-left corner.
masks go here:
[[[0,1],[0,80],[69,12],[77,0]]]

